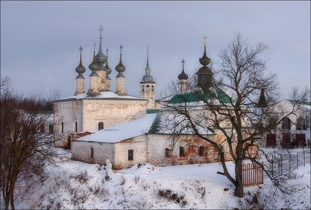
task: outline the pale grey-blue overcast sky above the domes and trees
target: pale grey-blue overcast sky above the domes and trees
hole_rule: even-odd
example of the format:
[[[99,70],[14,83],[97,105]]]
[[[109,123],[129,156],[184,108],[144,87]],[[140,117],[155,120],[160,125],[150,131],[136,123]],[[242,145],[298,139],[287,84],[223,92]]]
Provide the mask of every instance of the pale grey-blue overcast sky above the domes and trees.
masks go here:
[[[62,89],[62,97],[76,90],[75,68],[80,60],[85,91],[89,88],[94,43],[108,47],[111,90],[115,91],[122,63],[125,90],[140,96],[147,45],[151,75],[160,91],[177,79],[181,60],[186,73],[201,67],[199,58],[207,38],[207,56],[217,61],[238,31],[249,44],[264,42],[269,50],[267,71],[279,74],[283,97],[293,86],[310,88],[310,1],[1,1],[1,77],[12,78],[15,89]]]

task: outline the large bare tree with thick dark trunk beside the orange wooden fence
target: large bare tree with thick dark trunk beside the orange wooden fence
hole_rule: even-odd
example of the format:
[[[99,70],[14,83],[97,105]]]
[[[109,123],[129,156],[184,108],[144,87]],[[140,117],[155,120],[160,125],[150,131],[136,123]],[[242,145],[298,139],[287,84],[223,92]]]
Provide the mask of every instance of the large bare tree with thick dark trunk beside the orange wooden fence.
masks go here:
[[[280,125],[285,117],[299,110],[302,101],[310,98],[308,89],[301,93],[295,91],[292,94],[294,108],[290,112],[276,107],[281,101],[277,74],[267,73],[267,61],[258,57],[267,49],[264,43],[250,46],[248,39],[243,39],[237,33],[227,48],[219,51],[220,61],[212,62],[211,68],[207,67],[210,59],[204,51],[200,59],[203,67],[188,79],[187,89],[180,90],[175,82],[168,85],[168,95],[173,97],[169,103],[163,103],[166,112],[183,117],[184,128],[190,127],[193,135],[206,140],[217,150],[224,170],[217,174],[224,175],[234,184],[238,197],[244,194],[242,161],[251,160],[260,164],[254,148],[261,137]],[[266,96],[262,97],[263,92]],[[197,130],[198,124],[206,125],[222,137],[216,141],[209,139]],[[175,132],[175,135],[181,133]],[[223,149],[224,146],[227,150]],[[225,164],[228,157],[234,160],[234,175],[228,172]],[[277,182],[272,176],[270,178]],[[281,190],[288,193],[284,188]]]

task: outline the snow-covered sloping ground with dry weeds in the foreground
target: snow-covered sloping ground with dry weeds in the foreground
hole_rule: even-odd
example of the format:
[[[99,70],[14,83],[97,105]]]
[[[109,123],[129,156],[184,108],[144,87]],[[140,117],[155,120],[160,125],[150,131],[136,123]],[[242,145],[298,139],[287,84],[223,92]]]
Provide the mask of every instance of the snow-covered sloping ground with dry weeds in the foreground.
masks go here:
[[[295,169],[290,183],[300,185],[293,196],[273,196],[271,181],[264,179],[264,184],[244,187],[239,202],[230,181],[216,174],[222,171],[219,163],[158,167],[141,163],[107,177],[104,165],[72,161],[68,150],[59,151],[62,162],[49,168],[48,179],[17,196],[16,209],[243,209],[250,208],[246,199],[252,200],[256,192],[265,209],[311,207],[310,164]],[[227,165],[233,174],[233,162]]]

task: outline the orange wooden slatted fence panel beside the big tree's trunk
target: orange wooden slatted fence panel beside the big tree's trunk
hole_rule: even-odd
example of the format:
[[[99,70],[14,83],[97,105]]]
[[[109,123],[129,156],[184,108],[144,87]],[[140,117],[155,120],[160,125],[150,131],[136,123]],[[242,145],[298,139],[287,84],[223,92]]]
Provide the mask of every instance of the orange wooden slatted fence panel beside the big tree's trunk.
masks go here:
[[[257,164],[243,164],[242,165],[242,179],[243,187],[262,184],[262,168]]]

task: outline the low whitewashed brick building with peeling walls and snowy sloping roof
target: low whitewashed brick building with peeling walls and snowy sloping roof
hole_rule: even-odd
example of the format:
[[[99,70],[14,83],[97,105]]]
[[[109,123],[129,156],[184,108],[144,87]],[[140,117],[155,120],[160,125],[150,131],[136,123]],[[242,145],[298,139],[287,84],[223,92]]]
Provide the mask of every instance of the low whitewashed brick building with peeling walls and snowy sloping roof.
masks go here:
[[[215,162],[218,153],[208,143],[193,137],[190,130],[172,143],[170,129],[165,125],[167,114],[148,114],[147,117],[106,128],[93,134],[73,134],[72,160],[87,163],[106,163],[122,169],[148,162],[152,165],[181,165]],[[202,125],[198,130],[216,141],[216,134]],[[80,137],[77,138],[76,137]],[[190,143],[191,142],[191,143]],[[208,148],[208,149],[207,149]],[[229,158],[229,157],[228,157]],[[215,160],[216,159],[216,160]]]

